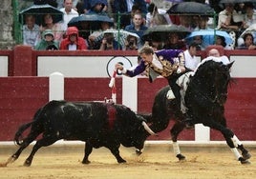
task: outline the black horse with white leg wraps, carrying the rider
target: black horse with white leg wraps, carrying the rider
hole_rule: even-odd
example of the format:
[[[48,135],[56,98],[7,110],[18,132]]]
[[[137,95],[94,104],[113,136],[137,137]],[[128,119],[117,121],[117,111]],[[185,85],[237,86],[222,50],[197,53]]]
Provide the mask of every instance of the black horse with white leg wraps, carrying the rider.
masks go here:
[[[233,151],[237,160],[242,164],[249,164],[250,154],[233,131],[226,127],[224,117],[227,89],[230,81],[232,81],[230,77],[232,65],[233,63],[224,65],[222,62],[214,60],[204,61],[194,75],[189,77],[189,83],[185,84],[187,89],[184,102],[187,113],[193,119],[194,124],[201,123],[206,127],[222,132],[227,145]],[[184,115],[181,112],[180,100],[166,98],[169,89],[169,86],[160,89],[155,97],[152,114],[144,115],[144,117],[152,123],[150,128],[155,132],[166,129],[170,119],[175,120],[175,124],[170,130],[173,148],[179,160],[184,160],[185,157],[181,154],[177,143],[178,135],[185,128],[185,125],[181,122]],[[242,155],[238,149],[242,151]]]

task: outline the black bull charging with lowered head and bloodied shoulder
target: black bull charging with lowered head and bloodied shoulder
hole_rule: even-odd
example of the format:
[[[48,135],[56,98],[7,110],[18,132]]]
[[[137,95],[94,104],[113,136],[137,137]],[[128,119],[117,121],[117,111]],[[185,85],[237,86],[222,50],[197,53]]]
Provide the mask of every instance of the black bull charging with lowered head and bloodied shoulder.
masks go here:
[[[22,133],[31,127],[26,138]],[[124,147],[142,149],[147,137],[144,119],[123,105],[100,102],[52,101],[38,109],[32,122],[21,126],[15,133],[15,142],[20,148],[11,155],[6,164],[15,161],[22,150],[27,148],[39,134],[30,156],[24,166],[31,166],[35,152],[41,147],[52,145],[60,139],[85,141],[83,164],[93,148],[106,147],[117,158],[118,163],[125,162],[119,155],[120,144]]]

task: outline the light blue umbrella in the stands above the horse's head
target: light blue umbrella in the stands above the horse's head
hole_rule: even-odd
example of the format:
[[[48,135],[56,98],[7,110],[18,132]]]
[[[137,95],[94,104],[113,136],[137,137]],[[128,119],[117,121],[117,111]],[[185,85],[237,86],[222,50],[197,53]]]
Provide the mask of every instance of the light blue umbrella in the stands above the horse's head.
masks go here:
[[[223,30],[196,30],[192,31],[190,35],[188,35],[185,40],[189,43],[193,40],[193,37],[195,36],[203,36],[203,42],[206,45],[214,45],[215,44],[215,36],[223,36],[226,45],[230,45],[233,43],[232,37]]]

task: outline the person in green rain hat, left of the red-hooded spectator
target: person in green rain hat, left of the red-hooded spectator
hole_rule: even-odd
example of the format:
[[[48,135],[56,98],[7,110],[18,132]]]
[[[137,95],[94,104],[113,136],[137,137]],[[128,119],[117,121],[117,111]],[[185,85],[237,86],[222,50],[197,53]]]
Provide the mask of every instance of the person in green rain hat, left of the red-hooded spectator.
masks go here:
[[[35,50],[58,50],[59,44],[54,41],[53,30],[44,30],[42,40],[35,46]]]

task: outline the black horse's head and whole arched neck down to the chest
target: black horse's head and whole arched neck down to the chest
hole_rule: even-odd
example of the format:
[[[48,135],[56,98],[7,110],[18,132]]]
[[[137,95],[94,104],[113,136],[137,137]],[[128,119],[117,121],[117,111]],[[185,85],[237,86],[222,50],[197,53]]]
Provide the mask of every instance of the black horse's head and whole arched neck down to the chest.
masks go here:
[[[206,59],[190,78],[186,99],[189,104],[198,103],[211,107],[214,103],[224,105],[227,89],[231,81],[230,68],[221,61]],[[197,97],[195,97],[197,96]]]

